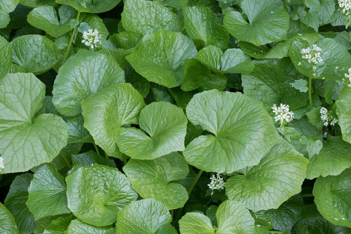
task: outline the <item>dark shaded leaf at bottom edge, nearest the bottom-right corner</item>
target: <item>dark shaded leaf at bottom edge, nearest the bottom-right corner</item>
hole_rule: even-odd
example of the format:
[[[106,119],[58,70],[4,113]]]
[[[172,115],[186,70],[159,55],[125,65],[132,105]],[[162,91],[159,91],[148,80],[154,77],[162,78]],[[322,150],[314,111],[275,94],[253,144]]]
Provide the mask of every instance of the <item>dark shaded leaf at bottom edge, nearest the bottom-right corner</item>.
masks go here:
[[[317,210],[316,205],[306,205],[302,210],[302,217],[298,224],[305,225],[311,234],[346,234],[347,227],[336,226],[327,221]],[[299,232],[299,234],[305,234]]]

